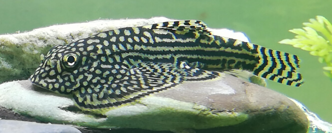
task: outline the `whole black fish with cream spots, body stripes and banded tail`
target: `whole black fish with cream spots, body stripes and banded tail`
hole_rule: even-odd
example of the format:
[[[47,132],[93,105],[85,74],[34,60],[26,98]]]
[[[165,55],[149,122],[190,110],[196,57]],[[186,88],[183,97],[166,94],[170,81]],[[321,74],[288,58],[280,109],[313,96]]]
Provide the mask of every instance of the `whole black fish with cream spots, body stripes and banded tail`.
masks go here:
[[[287,52],[212,35],[200,20],[166,21],[108,30],[40,55],[33,84],[72,94],[82,110],[104,113],[183,81],[243,69],[300,86],[299,58]]]

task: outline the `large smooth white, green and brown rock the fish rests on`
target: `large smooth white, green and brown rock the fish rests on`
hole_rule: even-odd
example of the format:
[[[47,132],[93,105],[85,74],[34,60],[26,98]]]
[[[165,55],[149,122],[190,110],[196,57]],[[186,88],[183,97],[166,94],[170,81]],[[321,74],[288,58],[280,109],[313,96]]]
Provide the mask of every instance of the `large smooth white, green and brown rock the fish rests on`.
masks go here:
[[[228,74],[214,80],[184,82],[136,104],[110,110],[107,118],[65,110],[73,104],[69,97],[32,88],[28,80],[0,84],[1,106],[51,123],[112,128],[112,132],[116,128],[176,132],[308,130],[306,115],[288,97]]]

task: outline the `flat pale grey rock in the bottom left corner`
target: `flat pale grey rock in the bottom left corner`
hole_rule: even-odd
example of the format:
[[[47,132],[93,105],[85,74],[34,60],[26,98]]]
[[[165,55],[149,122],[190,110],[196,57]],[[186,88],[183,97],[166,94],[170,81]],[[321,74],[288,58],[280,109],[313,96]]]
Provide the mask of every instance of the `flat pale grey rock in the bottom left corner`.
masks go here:
[[[18,120],[0,120],[0,132],[8,133],[80,133],[80,131],[69,125],[45,124]]]

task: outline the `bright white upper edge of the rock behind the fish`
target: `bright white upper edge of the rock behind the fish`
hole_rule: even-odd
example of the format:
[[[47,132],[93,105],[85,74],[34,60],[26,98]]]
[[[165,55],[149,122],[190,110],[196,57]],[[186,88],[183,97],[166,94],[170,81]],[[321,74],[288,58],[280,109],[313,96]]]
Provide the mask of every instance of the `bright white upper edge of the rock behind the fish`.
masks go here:
[[[143,26],[169,20],[174,19],[169,19],[166,17],[153,17],[150,19],[94,20],[82,23],[59,24],[36,28],[32,31],[23,33],[0,35],[0,44],[3,42],[10,42],[16,45],[31,43],[36,44],[37,46],[63,44],[66,42],[78,40],[79,38],[88,37],[101,31],[121,27]],[[242,32],[234,32],[229,29],[209,28],[209,30],[211,30],[213,34],[248,41],[248,38]],[[30,51],[28,48],[26,48],[26,50]],[[38,51],[32,52],[36,53]]]

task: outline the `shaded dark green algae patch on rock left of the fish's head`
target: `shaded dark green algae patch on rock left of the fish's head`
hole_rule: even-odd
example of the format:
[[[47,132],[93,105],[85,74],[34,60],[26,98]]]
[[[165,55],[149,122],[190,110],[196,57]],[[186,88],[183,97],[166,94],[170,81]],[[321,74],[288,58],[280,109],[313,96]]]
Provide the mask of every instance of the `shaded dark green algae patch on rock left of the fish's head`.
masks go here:
[[[27,79],[37,68],[40,54],[46,54],[51,45],[13,44],[0,40],[0,83]]]

